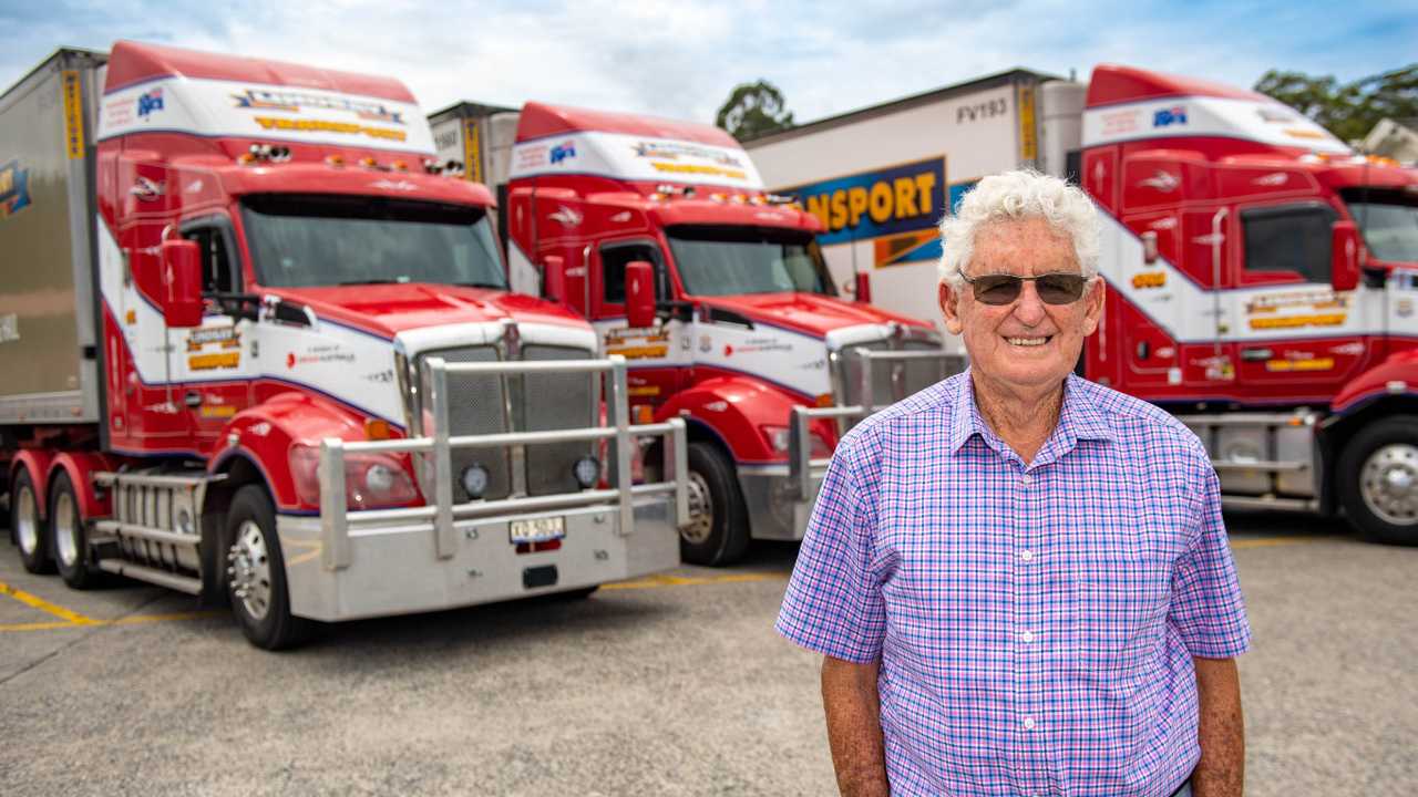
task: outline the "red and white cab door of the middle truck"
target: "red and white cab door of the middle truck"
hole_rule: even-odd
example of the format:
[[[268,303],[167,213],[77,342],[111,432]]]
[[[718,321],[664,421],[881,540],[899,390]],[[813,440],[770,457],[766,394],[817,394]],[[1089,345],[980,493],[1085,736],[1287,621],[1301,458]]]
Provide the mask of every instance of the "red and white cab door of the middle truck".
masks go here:
[[[658,407],[682,386],[689,364],[689,332],[678,319],[631,329],[625,319],[625,264],[655,267],[655,301],[671,298],[669,274],[659,244],[649,240],[604,241],[593,255],[591,322],[605,355],[630,360],[630,401]]]

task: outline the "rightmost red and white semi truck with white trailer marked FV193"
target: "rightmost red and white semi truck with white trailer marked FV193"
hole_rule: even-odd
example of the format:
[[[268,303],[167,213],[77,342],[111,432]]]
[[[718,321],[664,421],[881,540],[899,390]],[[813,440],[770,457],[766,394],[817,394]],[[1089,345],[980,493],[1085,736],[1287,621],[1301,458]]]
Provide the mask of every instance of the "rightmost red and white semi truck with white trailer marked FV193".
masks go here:
[[[749,147],[770,186],[825,214],[841,166],[871,174],[922,147],[951,165],[951,194],[1007,169],[1068,173],[1103,216],[1107,303],[1082,373],[1178,414],[1228,506],[1343,511],[1418,545],[1418,172],[1268,96],[1113,65],[1086,85],[1010,72]],[[827,153],[856,162],[825,173]],[[864,250],[878,302],[919,312],[932,258],[873,262],[855,241],[838,268]],[[795,478],[810,459],[794,452]]]

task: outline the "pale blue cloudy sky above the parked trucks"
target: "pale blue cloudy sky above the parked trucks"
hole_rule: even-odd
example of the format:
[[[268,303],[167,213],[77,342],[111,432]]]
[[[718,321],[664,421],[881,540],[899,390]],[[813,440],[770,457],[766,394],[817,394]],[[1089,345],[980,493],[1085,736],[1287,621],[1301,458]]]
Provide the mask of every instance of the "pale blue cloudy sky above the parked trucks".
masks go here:
[[[1012,67],[1113,61],[1249,87],[1418,60],[1418,0],[0,0],[0,87],[60,45],[135,38],[398,77],[427,111],[526,99],[712,121],[739,82],[798,122]]]

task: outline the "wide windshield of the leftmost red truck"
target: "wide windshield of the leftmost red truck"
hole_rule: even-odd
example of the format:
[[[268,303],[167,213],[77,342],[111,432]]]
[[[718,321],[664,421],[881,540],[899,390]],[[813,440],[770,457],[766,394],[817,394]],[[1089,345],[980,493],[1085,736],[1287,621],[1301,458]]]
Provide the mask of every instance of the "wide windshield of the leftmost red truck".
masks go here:
[[[272,288],[438,282],[506,288],[482,208],[384,197],[242,201],[257,277]]]

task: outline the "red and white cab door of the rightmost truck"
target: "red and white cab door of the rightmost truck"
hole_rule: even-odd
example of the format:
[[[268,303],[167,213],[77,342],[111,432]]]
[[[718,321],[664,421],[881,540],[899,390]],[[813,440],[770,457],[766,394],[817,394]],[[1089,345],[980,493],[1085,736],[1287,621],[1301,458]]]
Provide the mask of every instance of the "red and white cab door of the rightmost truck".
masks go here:
[[[1235,318],[1246,396],[1326,400],[1364,360],[1354,294],[1330,282],[1337,213],[1317,200],[1239,207]]]

